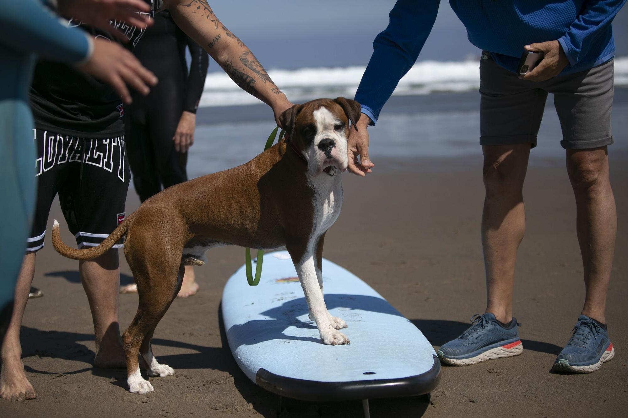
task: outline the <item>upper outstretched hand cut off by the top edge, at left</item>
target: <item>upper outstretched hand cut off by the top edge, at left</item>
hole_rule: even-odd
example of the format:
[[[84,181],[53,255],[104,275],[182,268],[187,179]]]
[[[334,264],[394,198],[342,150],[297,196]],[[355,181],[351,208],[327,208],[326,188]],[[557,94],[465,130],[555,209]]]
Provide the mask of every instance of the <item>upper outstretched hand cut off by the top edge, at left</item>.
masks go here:
[[[111,33],[122,42],[128,41],[127,37],[114,29],[110,20],[123,21],[140,29],[153,24],[148,14],[151,6],[142,0],[58,0],[58,11],[65,18],[77,19]]]

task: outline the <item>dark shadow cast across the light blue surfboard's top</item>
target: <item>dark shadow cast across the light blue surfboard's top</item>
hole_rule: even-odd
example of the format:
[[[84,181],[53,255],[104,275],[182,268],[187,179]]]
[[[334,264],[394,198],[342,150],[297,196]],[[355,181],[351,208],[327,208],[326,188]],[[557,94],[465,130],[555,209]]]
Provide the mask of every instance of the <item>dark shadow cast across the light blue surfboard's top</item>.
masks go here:
[[[397,309],[394,309],[384,299],[374,296],[325,294],[325,304],[327,309],[330,310],[334,308],[343,308],[349,311],[359,309],[360,311],[402,316]],[[290,327],[316,330],[316,325],[308,319],[306,321],[298,319],[307,313],[308,306],[305,297],[297,297],[261,313],[268,319],[252,319],[244,324],[231,326],[227,330],[227,336],[229,336],[229,339],[242,341],[242,345],[254,345],[271,340],[310,341],[322,344],[318,332],[313,332],[311,337],[286,335],[284,333]],[[342,314],[340,316],[342,317]]]

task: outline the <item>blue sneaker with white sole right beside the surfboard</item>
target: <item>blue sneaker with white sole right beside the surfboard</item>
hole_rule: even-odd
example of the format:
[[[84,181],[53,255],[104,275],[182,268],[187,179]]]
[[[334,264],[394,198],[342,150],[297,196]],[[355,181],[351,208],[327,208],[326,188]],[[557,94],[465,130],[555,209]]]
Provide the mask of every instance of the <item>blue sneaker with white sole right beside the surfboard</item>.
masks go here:
[[[438,350],[440,361],[453,366],[467,366],[495,358],[518,356],[523,351],[517,320],[504,328],[492,313],[475,314],[471,327]]]

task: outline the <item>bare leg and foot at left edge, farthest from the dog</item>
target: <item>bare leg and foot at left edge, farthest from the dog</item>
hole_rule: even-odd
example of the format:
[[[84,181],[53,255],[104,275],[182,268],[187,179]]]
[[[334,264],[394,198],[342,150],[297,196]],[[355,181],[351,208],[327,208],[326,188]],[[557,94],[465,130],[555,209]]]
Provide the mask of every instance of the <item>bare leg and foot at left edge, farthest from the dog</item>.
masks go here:
[[[33,276],[35,276],[35,253],[30,252],[24,255],[18,282],[15,285],[13,315],[4,336],[1,350],[0,397],[7,400],[35,399],[33,385],[24,373],[22,346],[19,343],[19,329],[22,325]]]

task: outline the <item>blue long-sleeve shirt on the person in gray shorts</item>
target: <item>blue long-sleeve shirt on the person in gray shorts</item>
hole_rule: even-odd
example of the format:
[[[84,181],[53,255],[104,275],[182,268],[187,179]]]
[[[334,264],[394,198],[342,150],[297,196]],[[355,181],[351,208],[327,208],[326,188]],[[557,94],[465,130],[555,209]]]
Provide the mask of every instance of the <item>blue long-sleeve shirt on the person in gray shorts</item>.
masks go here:
[[[569,65],[560,75],[610,60],[613,18],[626,0],[450,0],[468,40],[499,65],[516,72],[525,45],[558,40]],[[399,80],[414,65],[438,13],[440,0],[398,0],[388,27],[373,43],[355,100],[377,122]]]

